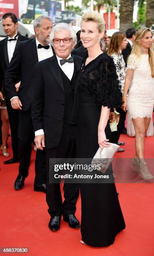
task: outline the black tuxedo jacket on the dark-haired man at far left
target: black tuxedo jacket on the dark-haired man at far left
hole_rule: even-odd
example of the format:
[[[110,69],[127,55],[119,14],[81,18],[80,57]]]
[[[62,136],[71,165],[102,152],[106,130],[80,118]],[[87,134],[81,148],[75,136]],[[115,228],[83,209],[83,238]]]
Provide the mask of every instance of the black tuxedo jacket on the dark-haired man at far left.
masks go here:
[[[27,41],[27,40],[29,40],[28,37],[22,36],[19,33],[15,49],[18,46],[18,43],[20,41]],[[9,66],[8,37],[6,37],[2,41],[0,41],[0,91],[2,89],[3,82],[4,82],[4,90],[5,90],[5,72],[8,68],[8,66]],[[20,81],[20,76],[18,74],[18,77],[16,78],[15,83],[14,83],[14,87],[15,87],[15,84],[19,81]]]

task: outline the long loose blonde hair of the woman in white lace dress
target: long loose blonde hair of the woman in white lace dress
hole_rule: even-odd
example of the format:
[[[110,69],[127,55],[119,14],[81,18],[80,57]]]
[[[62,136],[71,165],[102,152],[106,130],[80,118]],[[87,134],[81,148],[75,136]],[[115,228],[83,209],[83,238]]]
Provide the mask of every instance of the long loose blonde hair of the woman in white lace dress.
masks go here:
[[[131,50],[131,54],[135,54],[136,58],[139,58],[141,54],[143,54],[139,41],[143,39],[147,32],[151,32],[151,35],[153,36],[151,29],[146,27],[140,28],[136,33],[136,37],[133,43],[133,49]],[[152,45],[149,48],[149,64],[151,68],[151,76],[154,77],[154,49]]]

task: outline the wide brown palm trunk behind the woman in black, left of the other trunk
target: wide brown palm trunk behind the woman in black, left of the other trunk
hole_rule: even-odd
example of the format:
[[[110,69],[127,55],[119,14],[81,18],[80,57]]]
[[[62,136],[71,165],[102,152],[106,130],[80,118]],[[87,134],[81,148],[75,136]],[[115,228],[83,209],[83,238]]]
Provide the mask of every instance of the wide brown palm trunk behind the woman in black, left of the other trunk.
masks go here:
[[[126,32],[133,26],[133,11],[135,0],[120,1],[120,31]]]

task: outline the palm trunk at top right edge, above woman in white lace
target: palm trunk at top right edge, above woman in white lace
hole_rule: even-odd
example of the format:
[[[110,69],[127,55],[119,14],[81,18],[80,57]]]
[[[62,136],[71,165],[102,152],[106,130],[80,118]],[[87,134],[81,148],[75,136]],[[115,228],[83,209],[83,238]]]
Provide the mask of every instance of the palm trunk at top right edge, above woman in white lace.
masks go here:
[[[154,0],[147,0],[146,6],[146,27],[154,24]]]

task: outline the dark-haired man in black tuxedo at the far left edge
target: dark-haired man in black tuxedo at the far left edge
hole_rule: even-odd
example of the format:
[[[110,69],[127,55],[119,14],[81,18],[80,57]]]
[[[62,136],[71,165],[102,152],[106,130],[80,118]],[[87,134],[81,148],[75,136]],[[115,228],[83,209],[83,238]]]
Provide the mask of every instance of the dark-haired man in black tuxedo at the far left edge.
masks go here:
[[[5,102],[8,110],[11,130],[11,142],[13,149],[13,158],[4,162],[4,164],[13,164],[18,162],[18,110],[11,107],[8,93],[5,88],[5,72],[12,59],[13,53],[20,41],[27,41],[29,38],[18,33],[18,19],[13,13],[5,13],[2,17],[2,26],[7,37],[0,41],[0,91],[4,90]],[[16,77],[13,87],[18,91],[20,85],[20,74]],[[0,94],[1,95],[1,94]],[[2,95],[1,95],[2,96]],[[1,97],[2,98],[2,97]],[[2,98],[3,99],[3,98]]]

